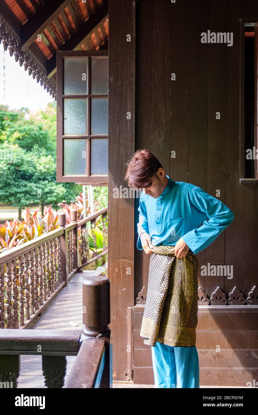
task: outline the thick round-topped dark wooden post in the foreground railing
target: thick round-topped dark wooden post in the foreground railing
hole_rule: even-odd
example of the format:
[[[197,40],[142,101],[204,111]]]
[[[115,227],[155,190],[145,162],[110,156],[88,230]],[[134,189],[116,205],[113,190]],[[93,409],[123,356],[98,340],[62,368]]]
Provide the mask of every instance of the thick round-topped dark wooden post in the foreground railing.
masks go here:
[[[82,322],[85,339],[105,341],[105,362],[100,388],[112,387],[112,337],[110,323],[110,281],[106,276],[85,277],[82,282]]]

